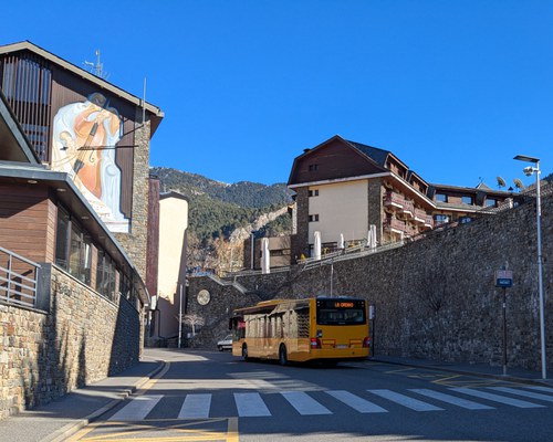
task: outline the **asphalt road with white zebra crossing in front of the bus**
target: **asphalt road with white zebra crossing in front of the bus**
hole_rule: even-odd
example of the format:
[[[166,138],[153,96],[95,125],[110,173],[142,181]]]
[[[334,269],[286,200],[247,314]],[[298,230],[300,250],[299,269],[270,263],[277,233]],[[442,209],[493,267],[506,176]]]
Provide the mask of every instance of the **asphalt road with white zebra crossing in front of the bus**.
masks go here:
[[[547,441],[553,388],[373,361],[335,368],[179,354],[72,441]]]

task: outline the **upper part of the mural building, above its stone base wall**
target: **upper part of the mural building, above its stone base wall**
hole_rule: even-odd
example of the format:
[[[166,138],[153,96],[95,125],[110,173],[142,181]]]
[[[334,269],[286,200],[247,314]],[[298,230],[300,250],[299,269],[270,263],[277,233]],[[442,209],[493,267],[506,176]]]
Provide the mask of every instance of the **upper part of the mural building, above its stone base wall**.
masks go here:
[[[0,46],[0,245],[147,304],[149,140],[163,112],[27,41]]]

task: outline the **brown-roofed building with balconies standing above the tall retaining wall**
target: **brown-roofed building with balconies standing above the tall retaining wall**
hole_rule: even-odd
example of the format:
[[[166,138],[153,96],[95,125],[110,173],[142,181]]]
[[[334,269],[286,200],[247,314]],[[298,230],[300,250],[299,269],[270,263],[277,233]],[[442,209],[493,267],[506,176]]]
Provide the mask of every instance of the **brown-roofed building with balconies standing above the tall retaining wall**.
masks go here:
[[[429,183],[392,151],[338,135],[294,159],[288,187],[295,191],[294,259],[310,256],[315,232],[323,251],[366,243],[371,225],[385,244],[468,222],[515,198],[484,185]]]

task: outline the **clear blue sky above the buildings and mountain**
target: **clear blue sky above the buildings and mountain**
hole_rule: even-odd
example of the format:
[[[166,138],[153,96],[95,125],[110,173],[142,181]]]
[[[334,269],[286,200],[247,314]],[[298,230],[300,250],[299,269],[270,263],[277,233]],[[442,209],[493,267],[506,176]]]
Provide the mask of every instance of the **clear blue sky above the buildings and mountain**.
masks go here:
[[[159,106],[150,164],[285,182],[338,134],[429,182],[526,185],[553,171],[553,1],[125,0],[2,6],[22,40]]]

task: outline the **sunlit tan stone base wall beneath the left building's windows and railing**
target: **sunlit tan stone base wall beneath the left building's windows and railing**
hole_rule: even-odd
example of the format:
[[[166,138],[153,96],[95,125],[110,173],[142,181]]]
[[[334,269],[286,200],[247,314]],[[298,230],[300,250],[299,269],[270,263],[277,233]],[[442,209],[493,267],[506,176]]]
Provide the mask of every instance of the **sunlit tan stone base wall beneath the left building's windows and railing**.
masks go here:
[[[138,361],[140,312],[42,264],[43,311],[0,304],[0,419],[48,403]],[[50,290],[49,290],[50,288]]]

